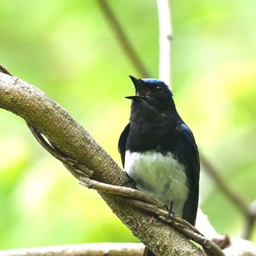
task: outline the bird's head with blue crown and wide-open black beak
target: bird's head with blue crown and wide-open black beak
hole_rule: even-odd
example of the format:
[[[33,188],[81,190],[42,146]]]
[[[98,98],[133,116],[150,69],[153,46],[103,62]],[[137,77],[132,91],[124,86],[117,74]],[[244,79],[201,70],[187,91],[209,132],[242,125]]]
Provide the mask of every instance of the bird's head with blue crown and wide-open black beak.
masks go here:
[[[135,89],[135,96],[128,96],[127,99],[132,99],[132,105],[142,108],[154,108],[154,110],[165,112],[175,108],[173,102],[173,94],[169,87],[161,80],[145,78],[138,79],[132,75],[131,78]]]

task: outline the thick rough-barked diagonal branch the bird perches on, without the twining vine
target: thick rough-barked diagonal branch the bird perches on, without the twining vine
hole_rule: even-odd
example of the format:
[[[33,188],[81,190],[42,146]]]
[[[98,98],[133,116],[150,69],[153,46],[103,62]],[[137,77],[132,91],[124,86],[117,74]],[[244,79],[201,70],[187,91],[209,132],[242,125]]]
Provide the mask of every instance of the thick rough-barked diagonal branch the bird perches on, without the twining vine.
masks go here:
[[[0,73],[0,108],[24,118],[64,157],[75,159],[79,165],[92,170],[94,180],[117,186],[126,183],[132,187],[124,171],[89,133],[36,87]],[[191,255],[191,252],[193,255],[202,255],[200,249],[157,217],[152,217],[115,195],[99,194],[135,236],[151,248],[154,247],[157,255]]]

